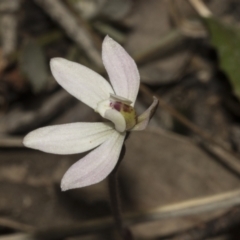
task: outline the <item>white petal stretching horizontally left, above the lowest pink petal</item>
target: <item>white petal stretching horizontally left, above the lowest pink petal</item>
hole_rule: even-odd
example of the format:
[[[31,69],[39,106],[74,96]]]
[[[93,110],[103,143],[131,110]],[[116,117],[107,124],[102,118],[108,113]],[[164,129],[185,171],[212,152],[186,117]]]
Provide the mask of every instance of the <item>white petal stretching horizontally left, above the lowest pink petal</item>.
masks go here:
[[[69,123],[34,130],[23,144],[48,153],[74,154],[97,147],[113,132],[113,126],[106,123]]]

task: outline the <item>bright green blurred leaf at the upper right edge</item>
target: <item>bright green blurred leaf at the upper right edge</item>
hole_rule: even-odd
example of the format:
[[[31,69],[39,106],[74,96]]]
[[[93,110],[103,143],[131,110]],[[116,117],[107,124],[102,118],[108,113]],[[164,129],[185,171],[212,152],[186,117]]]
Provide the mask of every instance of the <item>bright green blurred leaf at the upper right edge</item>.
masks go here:
[[[203,20],[218,52],[220,67],[229,77],[235,94],[240,97],[240,30],[213,17]]]

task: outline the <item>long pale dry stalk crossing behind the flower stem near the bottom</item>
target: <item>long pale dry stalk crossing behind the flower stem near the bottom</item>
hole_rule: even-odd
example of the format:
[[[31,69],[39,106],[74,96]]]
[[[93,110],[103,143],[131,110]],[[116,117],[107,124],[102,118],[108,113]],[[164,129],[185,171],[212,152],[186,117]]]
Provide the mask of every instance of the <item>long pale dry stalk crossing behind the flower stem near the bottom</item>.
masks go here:
[[[128,225],[134,225],[137,223],[196,215],[239,205],[240,190],[236,190],[209,197],[191,199],[176,204],[165,205],[147,211],[129,213],[124,215],[124,221]],[[32,233],[9,235],[9,238],[0,237],[0,240],[57,240],[59,238],[108,230],[113,226],[114,223],[112,218],[107,217],[76,223],[71,226],[38,229]]]

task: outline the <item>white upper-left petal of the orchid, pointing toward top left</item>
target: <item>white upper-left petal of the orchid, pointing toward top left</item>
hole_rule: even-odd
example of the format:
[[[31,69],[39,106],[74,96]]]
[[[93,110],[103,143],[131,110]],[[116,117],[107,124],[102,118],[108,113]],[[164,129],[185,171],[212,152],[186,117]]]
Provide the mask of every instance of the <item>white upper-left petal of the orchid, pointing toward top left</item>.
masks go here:
[[[53,58],[50,62],[56,81],[70,94],[95,109],[99,101],[108,99],[113,90],[98,73],[64,58]]]

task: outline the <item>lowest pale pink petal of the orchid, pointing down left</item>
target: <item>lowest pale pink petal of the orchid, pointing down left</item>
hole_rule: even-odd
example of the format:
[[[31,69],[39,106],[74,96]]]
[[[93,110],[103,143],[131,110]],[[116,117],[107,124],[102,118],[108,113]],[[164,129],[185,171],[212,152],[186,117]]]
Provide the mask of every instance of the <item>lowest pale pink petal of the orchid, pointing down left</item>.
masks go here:
[[[73,164],[63,176],[63,191],[89,186],[102,181],[117,164],[125,133],[117,131],[101,146]]]

